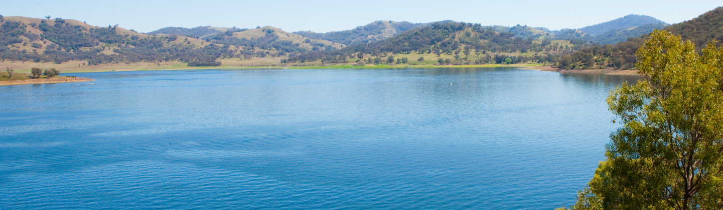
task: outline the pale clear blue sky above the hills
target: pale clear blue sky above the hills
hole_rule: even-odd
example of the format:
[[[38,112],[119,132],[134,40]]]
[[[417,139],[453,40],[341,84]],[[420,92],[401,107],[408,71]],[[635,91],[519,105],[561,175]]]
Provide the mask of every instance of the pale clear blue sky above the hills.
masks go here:
[[[589,3],[588,3],[589,2]],[[1,3],[0,14],[61,17],[90,25],[120,25],[150,32],[162,27],[256,27],[294,32],[349,30],[375,20],[435,22],[451,19],[482,25],[529,25],[550,30],[580,28],[627,14],[669,24],[698,17],[722,1],[17,1]]]

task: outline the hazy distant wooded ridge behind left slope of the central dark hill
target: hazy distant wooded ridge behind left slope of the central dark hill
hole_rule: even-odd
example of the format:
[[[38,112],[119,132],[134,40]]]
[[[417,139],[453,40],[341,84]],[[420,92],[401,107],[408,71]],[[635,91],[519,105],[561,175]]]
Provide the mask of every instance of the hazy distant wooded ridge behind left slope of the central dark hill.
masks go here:
[[[398,35],[401,32],[411,30],[418,27],[424,27],[429,23],[411,23],[411,22],[393,22],[393,21],[375,21],[364,26],[356,27],[352,30],[343,30],[335,32],[309,32],[297,31],[294,34],[303,35],[308,38],[317,40],[328,40],[335,43],[343,43],[349,45],[351,43],[372,42],[375,40],[383,40]]]

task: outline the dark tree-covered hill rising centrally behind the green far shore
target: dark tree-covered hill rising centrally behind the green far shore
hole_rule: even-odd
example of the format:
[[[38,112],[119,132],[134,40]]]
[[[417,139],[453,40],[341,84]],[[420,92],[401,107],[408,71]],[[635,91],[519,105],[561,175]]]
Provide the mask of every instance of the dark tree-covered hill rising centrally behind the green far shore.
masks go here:
[[[561,45],[550,40],[515,38],[513,32],[497,32],[479,24],[447,22],[408,30],[386,40],[351,44],[338,51],[294,53],[290,54],[286,62],[321,60],[325,63],[337,63],[346,61],[346,58],[362,58],[365,54],[385,57],[387,53],[413,52],[435,53],[437,56],[442,53],[454,54],[458,61],[463,60],[462,56],[469,57],[470,53],[492,53],[492,55],[532,53],[531,56],[536,57],[526,59],[539,60],[539,58],[551,59],[552,55],[573,51],[586,44],[582,40],[568,41]],[[487,61],[476,62],[487,63]]]

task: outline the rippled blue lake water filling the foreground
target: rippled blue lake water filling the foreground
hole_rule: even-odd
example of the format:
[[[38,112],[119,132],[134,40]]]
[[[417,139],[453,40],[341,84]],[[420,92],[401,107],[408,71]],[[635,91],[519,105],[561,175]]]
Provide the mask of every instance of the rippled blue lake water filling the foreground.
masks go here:
[[[609,89],[511,68],[124,71],[0,87],[0,209],[554,209]]]

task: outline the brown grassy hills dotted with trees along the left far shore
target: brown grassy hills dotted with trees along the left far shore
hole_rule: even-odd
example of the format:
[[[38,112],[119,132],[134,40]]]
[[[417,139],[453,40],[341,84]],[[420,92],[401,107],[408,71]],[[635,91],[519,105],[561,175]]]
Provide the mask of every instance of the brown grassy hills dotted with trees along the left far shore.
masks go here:
[[[72,19],[0,16],[2,61],[87,61],[87,65],[183,61],[189,66],[218,66],[217,58],[281,56],[289,52],[333,50],[333,43],[281,30],[228,29],[199,40],[183,35],[146,35],[121,27],[95,27]],[[247,38],[236,37],[249,35]],[[316,45],[316,46],[315,46]],[[337,44],[341,48],[341,44]]]

